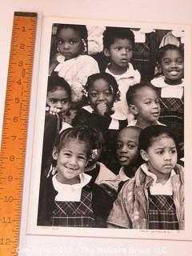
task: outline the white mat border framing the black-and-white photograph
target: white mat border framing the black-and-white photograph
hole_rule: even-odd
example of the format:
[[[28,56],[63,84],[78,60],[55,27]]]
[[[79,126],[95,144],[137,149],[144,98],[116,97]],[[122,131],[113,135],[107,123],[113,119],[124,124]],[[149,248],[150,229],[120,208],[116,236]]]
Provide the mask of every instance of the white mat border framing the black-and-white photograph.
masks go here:
[[[42,141],[44,132],[44,117],[46,106],[46,88],[50,62],[50,40],[54,23],[69,23],[95,26],[124,26],[159,30],[184,30],[185,46],[185,230],[128,230],[128,229],[101,229],[101,228],[69,228],[57,226],[37,226],[38,196],[40,186],[40,173],[42,164]],[[165,240],[192,240],[192,78],[191,78],[191,34],[190,26],[185,24],[143,23],[129,21],[107,21],[77,18],[44,17],[42,23],[42,42],[40,65],[38,71],[38,89],[36,117],[34,123],[34,145],[31,162],[30,195],[28,202],[28,216],[26,234],[58,235],[74,237],[100,237],[100,238],[136,238],[136,239],[165,239]],[[32,125],[32,124],[31,124]],[[28,145],[29,146],[29,145]]]

